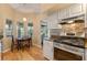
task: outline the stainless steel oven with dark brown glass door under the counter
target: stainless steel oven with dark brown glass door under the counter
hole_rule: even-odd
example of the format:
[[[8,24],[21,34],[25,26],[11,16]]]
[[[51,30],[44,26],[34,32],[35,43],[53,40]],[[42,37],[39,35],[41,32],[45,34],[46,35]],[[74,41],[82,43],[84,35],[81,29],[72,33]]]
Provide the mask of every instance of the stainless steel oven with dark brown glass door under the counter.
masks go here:
[[[58,61],[83,61],[84,48],[62,43],[54,43],[54,59]]]

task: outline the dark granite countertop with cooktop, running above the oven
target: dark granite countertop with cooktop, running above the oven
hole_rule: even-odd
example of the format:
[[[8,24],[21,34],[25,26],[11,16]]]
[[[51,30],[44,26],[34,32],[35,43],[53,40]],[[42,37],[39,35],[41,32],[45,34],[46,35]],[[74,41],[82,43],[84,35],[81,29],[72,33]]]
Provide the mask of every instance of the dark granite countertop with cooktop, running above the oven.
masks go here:
[[[51,39],[45,39],[45,40],[57,42],[57,43],[64,43],[64,44],[68,44],[80,48],[87,47],[87,40],[78,36],[59,35],[59,36],[52,36]]]

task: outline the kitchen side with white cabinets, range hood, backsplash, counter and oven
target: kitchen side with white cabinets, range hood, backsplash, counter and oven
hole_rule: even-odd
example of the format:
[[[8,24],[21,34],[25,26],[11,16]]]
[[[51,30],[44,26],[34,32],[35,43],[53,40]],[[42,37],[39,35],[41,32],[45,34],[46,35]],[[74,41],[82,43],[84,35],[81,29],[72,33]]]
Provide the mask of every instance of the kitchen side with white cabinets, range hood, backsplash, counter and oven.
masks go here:
[[[46,21],[53,21],[52,26],[51,24],[48,26],[48,36],[43,41],[43,53],[46,58],[51,61],[87,59],[85,9],[85,4],[72,4],[52,14],[53,20],[46,19]],[[58,19],[55,18],[56,14]]]

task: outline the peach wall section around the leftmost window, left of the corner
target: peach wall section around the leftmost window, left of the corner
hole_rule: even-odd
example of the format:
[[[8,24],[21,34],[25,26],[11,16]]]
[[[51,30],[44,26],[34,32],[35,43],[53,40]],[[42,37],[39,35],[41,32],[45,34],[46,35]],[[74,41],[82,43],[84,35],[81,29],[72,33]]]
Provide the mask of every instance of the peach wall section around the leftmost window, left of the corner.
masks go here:
[[[6,30],[4,30],[4,24],[6,24],[6,19],[13,19],[13,10],[8,6],[8,4],[0,4],[0,28],[3,30],[3,51],[8,51],[10,45],[11,45],[11,40],[6,36]]]

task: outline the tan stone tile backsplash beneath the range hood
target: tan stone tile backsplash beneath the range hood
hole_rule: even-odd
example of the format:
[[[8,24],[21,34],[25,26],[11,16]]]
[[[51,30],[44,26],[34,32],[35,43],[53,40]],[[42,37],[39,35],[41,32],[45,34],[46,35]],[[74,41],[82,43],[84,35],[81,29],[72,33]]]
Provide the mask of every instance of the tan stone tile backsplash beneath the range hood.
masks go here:
[[[85,28],[84,23],[72,23],[62,25],[62,30],[64,33],[75,33],[78,36],[85,33],[84,28]]]

